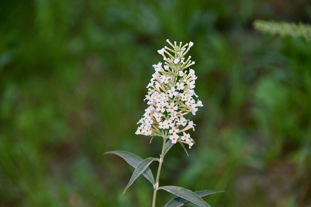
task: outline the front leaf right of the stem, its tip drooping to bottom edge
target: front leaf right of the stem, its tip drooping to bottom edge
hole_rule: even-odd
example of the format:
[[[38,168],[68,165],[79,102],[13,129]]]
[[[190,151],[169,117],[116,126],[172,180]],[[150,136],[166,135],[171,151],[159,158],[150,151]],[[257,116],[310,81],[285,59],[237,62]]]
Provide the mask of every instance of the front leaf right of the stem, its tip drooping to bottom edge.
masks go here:
[[[159,187],[159,189],[168,191],[170,193],[173,193],[174,195],[177,195],[183,199],[186,199],[190,201],[191,203],[198,205],[199,207],[210,207],[207,202],[205,202],[199,195],[196,193],[177,186],[162,186]]]

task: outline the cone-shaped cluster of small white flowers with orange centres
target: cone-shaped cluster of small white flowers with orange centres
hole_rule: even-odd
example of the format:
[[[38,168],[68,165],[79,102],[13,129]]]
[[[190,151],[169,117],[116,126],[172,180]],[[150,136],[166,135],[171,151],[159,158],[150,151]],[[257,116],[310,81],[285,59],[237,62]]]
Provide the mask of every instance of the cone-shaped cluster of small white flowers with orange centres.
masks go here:
[[[186,131],[190,128],[194,130],[195,124],[184,115],[190,112],[195,115],[198,107],[203,106],[202,101],[193,99],[193,96],[198,97],[194,93],[197,77],[189,68],[194,62],[190,60],[191,56],[184,57],[193,43],[182,46],[181,42],[179,45],[167,42],[173,49],[164,47],[158,50],[165,63],[163,67],[161,62],[153,65],[155,73],[144,99],[148,101],[148,108],[137,123],[140,126],[136,134],[169,138],[172,143],[186,143],[191,148],[193,139]]]

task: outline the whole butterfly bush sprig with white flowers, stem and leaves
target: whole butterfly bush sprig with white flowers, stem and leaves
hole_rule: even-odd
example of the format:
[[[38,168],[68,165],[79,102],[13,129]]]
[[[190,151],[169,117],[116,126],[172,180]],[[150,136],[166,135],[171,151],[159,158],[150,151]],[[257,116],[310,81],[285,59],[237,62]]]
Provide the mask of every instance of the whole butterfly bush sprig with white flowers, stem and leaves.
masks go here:
[[[145,113],[138,121],[136,134],[163,139],[162,151],[159,158],[141,159],[138,156],[126,151],[109,151],[104,154],[116,154],[135,168],[129,183],[123,193],[133,184],[139,175],[145,176],[153,186],[152,207],[155,207],[156,193],[158,190],[168,191],[178,196],[169,201],[165,207],[180,207],[186,203],[193,203],[200,207],[209,207],[201,198],[219,191],[190,191],[177,186],[159,186],[159,178],[162,163],[166,153],[175,144],[180,143],[187,152],[187,146],[191,148],[194,144],[189,130],[194,131],[193,121],[186,119],[184,116],[188,113],[195,113],[198,107],[202,107],[202,101],[195,100],[198,96],[194,92],[195,72],[190,68],[194,64],[186,54],[193,46],[190,42],[182,46],[174,42],[172,44],[167,40],[171,48],[164,47],[157,52],[163,56],[164,65],[159,62],[154,64],[155,73],[152,75],[148,84],[148,94],[144,100],[147,101],[148,107]],[[149,165],[158,162],[158,170],[154,178]]]

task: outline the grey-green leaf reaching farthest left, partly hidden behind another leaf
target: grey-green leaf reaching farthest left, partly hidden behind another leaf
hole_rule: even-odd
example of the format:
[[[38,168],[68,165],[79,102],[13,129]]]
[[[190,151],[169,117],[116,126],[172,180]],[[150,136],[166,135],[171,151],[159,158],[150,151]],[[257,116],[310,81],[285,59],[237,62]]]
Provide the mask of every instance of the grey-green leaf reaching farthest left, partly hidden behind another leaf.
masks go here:
[[[139,158],[138,156],[126,151],[109,151],[105,152],[104,155],[105,154],[118,155],[134,168],[137,168],[138,164],[142,161],[142,159]],[[155,186],[155,178],[149,167],[146,168],[146,170],[142,173],[142,175],[144,175],[151,182],[151,184]]]

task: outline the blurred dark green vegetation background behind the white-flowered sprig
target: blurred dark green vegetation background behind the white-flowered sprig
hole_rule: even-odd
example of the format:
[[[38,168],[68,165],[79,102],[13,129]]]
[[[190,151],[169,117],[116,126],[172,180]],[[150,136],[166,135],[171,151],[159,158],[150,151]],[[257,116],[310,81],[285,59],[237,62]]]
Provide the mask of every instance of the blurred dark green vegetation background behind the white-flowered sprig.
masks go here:
[[[0,206],[151,206],[149,182],[122,195],[134,169],[103,153],[160,153],[134,133],[170,39],[194,42],[204,107],[160,185],[225,190],[212,207],[311,207],[311,42],[260,34],[255,19],[311,23],[311,4],[0,1]],[[158,206],[172,197],[159,191]]]

